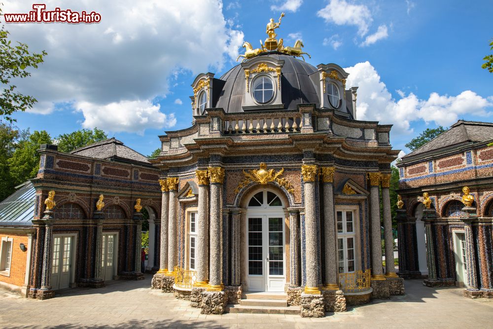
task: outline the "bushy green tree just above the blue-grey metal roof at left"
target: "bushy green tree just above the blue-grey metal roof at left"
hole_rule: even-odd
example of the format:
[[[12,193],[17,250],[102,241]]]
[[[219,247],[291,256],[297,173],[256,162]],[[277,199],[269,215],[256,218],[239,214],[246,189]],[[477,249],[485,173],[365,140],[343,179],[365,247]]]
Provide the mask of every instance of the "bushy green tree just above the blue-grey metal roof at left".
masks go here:
[[[12,157],[7,160],[10,177],[15,185],[36,177],[39,170],[37,149],[41,144],[51,143],[51,137],[45,130],[33,134],[29,134],[29,130],[21,133]]]

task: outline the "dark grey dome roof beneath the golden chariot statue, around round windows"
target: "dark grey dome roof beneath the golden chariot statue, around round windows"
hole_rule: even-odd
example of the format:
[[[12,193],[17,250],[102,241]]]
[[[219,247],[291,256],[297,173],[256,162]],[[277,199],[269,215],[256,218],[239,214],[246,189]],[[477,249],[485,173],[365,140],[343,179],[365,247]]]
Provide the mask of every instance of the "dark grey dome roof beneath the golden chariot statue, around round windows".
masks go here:
[[[319,107],[317,96],[318,75],[316,67],[303,62],[293,56],[278,52],[270,52],[259,56],[268,56],[276,60],[284,61],[281,76],[282,103],[287,110],[296,110],[296,106],[302,103],[315,103]],[[257,56],[258,57],[258,56]],[[245,72],[239,64],[224,73],[220,80],[225,81],[222,90],[216,98],[215,108],[222,108],[227,113],[243,112],[242,104],[245,97]],[[214,90],[214,94],[216,91]],[[259,106],[261,108],[261,106]],[[261,109],[259,109],[261,110]]]

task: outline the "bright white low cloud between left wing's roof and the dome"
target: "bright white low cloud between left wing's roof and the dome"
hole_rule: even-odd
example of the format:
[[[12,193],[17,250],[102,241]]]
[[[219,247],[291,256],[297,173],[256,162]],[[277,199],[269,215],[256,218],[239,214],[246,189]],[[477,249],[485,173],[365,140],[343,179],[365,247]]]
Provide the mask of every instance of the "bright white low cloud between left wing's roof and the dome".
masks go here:
[[[101,106],[90,102],[77,102],[75,109],[84,114],[82,127],[98,127],[105,131],[125,131],[143,134],[147,128],[173,127],[175,113],[164,114],[159,105],[149,101],[121,101]]]

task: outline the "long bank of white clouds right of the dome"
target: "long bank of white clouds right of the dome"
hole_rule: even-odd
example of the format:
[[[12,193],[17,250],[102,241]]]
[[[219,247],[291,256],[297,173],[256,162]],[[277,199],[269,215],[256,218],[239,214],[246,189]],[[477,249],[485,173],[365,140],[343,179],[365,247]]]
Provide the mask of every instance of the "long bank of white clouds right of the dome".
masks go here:
[[[466,90],[457,96],[431,93],[427,100],[415,94],[407,96],[397,91],[401,99],[396,100],[381,81],[380,75],[369,63],[358,63],[346,68],[350,73],[348,86],[358,86],[356,117],[359,120],[377,120],[383,124],[393,124],[392,134],[410,134],[411,122],[423,120],[437,125],[449,126],[459,118],[468,115],[493,115],[493,98],[483,98]],[[487,110],[487,109],[491,110]]]

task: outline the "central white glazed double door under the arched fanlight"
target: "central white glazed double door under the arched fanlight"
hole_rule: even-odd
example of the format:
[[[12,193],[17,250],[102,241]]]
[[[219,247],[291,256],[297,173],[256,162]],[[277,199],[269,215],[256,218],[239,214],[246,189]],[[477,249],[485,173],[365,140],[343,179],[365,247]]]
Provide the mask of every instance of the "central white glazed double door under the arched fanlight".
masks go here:
[[[248,291],[283,292],[285,284],[284,214],[247,215]]]

